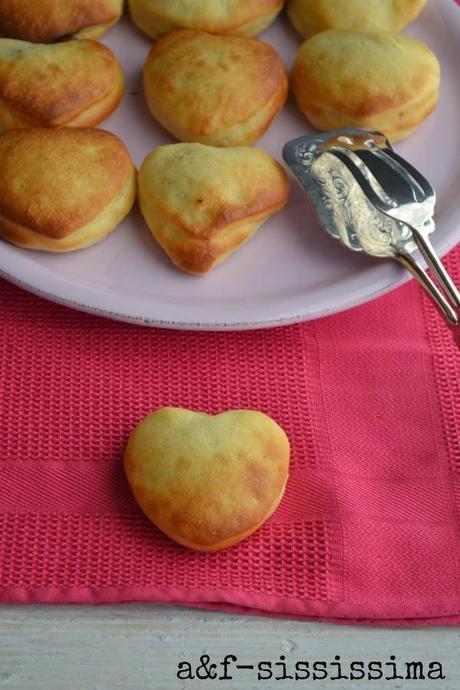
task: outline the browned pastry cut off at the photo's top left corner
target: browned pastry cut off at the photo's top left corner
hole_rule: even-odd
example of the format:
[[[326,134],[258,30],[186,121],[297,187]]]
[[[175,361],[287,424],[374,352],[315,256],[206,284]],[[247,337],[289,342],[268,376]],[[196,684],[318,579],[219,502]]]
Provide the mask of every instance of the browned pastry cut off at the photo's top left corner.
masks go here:
[[[122,12],[123,0],[1,0],[0,36],[33,43],[99,38]]]

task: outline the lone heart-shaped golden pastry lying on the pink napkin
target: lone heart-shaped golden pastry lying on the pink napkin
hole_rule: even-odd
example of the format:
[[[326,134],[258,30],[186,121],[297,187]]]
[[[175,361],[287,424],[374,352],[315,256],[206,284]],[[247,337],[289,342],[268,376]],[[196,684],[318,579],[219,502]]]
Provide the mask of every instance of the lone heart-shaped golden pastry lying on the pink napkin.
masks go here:
[[[255,532],[288,479],[289,440],[253,410],[210,416],[165,407],[132,432],[124,468],[134,498],[171,539],[218,551]]]

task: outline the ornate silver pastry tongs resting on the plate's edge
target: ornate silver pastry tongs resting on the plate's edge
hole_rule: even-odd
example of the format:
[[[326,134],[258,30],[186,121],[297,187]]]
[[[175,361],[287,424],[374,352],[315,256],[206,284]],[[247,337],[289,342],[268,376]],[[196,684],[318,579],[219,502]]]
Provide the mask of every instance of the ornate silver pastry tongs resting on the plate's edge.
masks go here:
[[[383,134],[355,128],[289,142],[284,157],[326,230],[351,249],[399,261],[428,292],[460,345],[460,292],[429,239],[436,195],[425,177]],[[439,286],[413,256],[416,248]]]

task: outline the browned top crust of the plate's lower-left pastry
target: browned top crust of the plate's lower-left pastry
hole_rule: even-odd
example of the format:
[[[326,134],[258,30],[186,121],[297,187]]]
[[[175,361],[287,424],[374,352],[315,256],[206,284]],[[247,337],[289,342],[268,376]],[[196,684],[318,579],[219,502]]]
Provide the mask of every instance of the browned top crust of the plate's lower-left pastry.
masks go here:
[[[91,128],[0,135],[0,218],[60,239],[87,225],[132,175],[114,134]]]

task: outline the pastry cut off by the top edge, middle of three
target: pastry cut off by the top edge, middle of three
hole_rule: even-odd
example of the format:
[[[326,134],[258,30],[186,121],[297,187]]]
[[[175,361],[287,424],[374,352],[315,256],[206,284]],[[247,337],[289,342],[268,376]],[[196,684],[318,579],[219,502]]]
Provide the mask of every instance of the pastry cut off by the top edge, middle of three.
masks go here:
[[[257,36],[283,4],[284,0],[129,0],[133,22],[152,38],[174,29]]]

